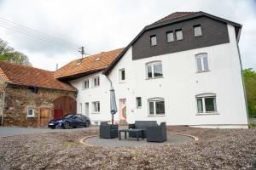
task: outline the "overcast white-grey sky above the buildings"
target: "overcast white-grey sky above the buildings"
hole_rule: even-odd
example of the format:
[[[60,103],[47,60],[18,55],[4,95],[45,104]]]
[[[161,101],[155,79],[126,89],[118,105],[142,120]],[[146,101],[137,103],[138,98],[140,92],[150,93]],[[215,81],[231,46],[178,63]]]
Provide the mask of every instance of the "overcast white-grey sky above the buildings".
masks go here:
[[[204,11],[242,24],[239,44],[243,67],[256,70],[255,0],[0,0],[2,20],[76,46],[63,48],[52,44],[56,40],[40,41],[35,37],[42,37],[28,37],[1,26],[0,38],[26,54],[33,66],[55,71],[56,63],[60,67],[80,57],[79,46],[84,46],[88,54],[125,47],[144,26],[177,11]]]

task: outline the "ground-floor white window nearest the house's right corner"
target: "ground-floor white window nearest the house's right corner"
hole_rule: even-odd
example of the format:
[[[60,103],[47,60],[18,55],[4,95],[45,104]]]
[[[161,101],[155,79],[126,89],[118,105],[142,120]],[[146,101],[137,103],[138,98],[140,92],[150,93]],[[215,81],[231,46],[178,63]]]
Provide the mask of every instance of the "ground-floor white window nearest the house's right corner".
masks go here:
[[[216,94],[198,94],[195,96],[197,113],[217,113]]]

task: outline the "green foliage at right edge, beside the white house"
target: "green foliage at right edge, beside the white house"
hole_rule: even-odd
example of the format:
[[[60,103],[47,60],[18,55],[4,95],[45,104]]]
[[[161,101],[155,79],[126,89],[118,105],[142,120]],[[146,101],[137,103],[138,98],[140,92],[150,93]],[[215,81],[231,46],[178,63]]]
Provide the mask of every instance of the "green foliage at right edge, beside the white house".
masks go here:
[[[247,105],[249,116],[256,118],[256,72],[252,68],[243,70],[247,91]]]

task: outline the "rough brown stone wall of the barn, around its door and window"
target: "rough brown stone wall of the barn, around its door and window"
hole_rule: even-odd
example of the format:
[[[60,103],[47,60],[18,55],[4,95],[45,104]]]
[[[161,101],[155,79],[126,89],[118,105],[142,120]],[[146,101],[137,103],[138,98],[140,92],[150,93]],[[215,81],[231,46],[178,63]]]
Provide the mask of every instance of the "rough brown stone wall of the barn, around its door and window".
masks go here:
[[[3,96],[3,92],[0,93],[0,99],[3,98],[1,96]],[[49,118],[52,118],[54,115],[54,100],[61,96],[69,96],[75,99],[76,93],[38,88],[38,93],[35,94],[28,92],[26,86],[9,84],[5,89],[3,125],[40,127],[40,110],[49,109]],[[27,117],[28,108],[34,109],[34,117]]]

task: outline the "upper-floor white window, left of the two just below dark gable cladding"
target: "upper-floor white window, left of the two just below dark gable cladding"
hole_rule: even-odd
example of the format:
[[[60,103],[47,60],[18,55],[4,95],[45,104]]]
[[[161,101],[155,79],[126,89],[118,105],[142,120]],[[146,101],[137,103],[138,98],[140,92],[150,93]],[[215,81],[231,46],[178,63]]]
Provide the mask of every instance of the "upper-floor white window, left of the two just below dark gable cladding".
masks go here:
[[[147,78],[163,77],[162,63],[160,61],[146,64]]]

